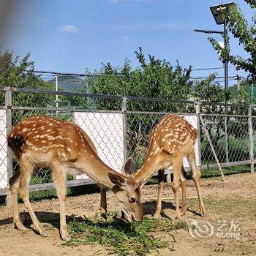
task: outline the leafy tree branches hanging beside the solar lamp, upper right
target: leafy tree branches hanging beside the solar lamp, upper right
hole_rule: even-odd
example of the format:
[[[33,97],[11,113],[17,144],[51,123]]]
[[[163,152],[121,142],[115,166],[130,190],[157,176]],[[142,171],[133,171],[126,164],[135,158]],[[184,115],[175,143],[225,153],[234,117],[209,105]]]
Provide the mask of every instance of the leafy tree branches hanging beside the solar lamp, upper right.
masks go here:
[[[256,8],[255,0],[244,0],[252,8]],[[227,59],[231,64],[236,66],[236,69],[244,69],[249,72],[249,78],[256,80],[256,14],[252,17],[252,25],[249,25],[244,18],[238,5],[236,8],[232,8],[229,15],[225,12],[222,13],[225,20],[228,21],[227,29],[230,33],[238,39],[240,45],[243,45],[244,50],[249,54],[248,59],[244,59],[242,56],[235,56],[230,53],[229,37],[227,40],[227,47],[222,49],[217,40],[209,37],[208,40],[211,45],[219,53],[219,59],[225,61]]]

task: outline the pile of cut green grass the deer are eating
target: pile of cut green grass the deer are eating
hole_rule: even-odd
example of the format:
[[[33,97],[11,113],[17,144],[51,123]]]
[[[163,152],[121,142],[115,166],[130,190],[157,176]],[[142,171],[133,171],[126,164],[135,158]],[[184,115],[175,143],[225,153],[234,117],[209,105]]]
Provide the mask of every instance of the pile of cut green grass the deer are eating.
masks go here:
[[[72,241],[66,243],[69,246],[100,244],[108,249],[108,254],[143,256],[170,245],[167,241],[159,238],[161,233],[168,233],[180,228],[187,229],[187,224],[185,222],[174,223],[170,219],[148,218],[143,219],[140,223],[129,223],[114,215],[109,222],[74,219],[69,222],[68,228],[73,238]]]

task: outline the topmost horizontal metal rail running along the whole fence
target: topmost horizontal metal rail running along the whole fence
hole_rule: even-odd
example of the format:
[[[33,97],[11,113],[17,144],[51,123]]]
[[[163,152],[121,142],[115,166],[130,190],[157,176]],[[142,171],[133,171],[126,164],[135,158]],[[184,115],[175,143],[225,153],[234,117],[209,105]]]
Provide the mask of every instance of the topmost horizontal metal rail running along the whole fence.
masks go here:
[[[178,99],[162,99],[162,98],[149,98],[149,97],[135,97],[135,96],[121,96],[121,95],[108,95],[108,94],[86,94],[81,92],[69,92],[69,91],[48,91],[42,89],[26,89],[19,87],[0,87],[0,91],[13,91],[13,92],[25,92],[28,94],[52,94],[52,95],[67,95],[67,96],[78,96],[78,97],[91,97],[101,99],[127,99],[136,101],[150,101],[150,102],[170,102],[176,104],[192,104],[192,105],[219,105],[229,106],[236,108],[249,108],[249,105],[238,105],[229,104],[225,102],[205,102],[205,101],[194,101],[194,100],[178,100]]]

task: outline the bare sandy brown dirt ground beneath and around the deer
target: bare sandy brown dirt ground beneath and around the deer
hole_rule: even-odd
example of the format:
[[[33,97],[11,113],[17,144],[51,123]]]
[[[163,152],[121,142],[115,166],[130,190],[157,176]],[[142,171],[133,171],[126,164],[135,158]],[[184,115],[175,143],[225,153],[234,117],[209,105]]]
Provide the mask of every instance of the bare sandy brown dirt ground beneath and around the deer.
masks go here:
[[[201,233],[202,237],[193,238],[188,231],[178,230],[172,233],[176,242],[174,251],[163,249],[151,255],[256,255],[256,178],[255,175],[237,174],[226,176],[227,181],[220,178],[202,180],[203,199],[206,204],[206,217],[198,215],[197,199],[188,199],[187,214],[182,217],[190,225],[190,219],[199,222],[200,227],[209,222],[214,227],[212,236]],[[180,193],[181,194],[181,193]],[[188,196],[196,196],[193,181],[188,181]],[[150,216],[154,213],[157,197],[157,185],[143,187],[144,213]],[[163,197],[173,197],[173,192],[165,185]],[[106,255],[107,251],[101,246],[64,246],[59,238],[59,230],[48,224],[50,219],[59,216],[59,201],[57,199],[41,200],[32,203],[39,219],[44,220],[50,237],[42,238],[33,230],[20,232],[13,228],[12,209],[0,206],[0,255]],[[162,217],[173,218],[173,200],[164,200]],[[82,195],[67,198],[67,215],[91,216],[98,211],[99,194]],[[20,212],[23,211],[20,204]],[[108,192],[108,211],[118,209],[116,198]],[[46,220],[45,220],[46,219]],[[48,220],[48,221],[47,221]],[[219,221],[219,222],[218,222]],[[224,230],[224,231],[223,231]],[[239,234],[240,239],[227,238],[232,234]],[[224,235],[223,235],[224,234]],[[194,233],[195,235],[195,233]],[[173,238],[168,234],[161,234],[162,238]],[[160,236],[160,237],[161,237]],[[217,236],[226,236],[219,238]],[[238,235],[237,235],[238,236]]]

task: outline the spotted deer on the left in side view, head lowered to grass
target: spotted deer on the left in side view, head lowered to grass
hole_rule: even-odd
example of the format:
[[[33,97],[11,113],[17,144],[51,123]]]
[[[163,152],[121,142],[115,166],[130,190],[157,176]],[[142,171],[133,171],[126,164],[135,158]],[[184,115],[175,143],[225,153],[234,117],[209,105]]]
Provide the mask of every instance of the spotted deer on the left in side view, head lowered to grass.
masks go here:
[[[8,135],[8,146],[14,151],[20,165],[20,170],[10,178],[13,221],[18,230],[26,229],[20,221],[18,211],[18,192],[20,192],[35,230],[41,236],[48,236],[29,202],[29,182],[32,174],[40,167],[52,168],[60,201],[60,234],[63,240],[70,239],[65,215],[67,173],[76,173],[76,175],[86,173],[116,194],[121,210],[127,214],[129,220],[142,219],[140,186],[143,181],[136,182],[132,176],[124,176],[105,165],[99,159],[89,136],[78,125],[48,116],[27,118],[12,129]],[[130,160],[124,167],[129,169],[129,163]],[[104,203],[104,200],[101,203]],[[104,205],[101,210],[105,210]]]

